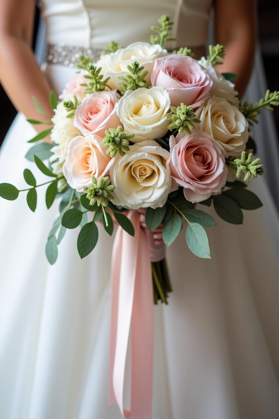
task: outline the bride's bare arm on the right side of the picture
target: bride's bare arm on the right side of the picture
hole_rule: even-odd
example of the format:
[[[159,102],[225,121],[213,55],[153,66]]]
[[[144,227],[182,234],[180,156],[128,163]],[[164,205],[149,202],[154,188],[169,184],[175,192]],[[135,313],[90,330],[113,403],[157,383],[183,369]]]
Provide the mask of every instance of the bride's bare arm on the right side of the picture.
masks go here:
[[[253,68],[256,42],[256,2],[254,0],[215,0],[215,42],[225,47],[220,72],[233,72],[241,96]]]

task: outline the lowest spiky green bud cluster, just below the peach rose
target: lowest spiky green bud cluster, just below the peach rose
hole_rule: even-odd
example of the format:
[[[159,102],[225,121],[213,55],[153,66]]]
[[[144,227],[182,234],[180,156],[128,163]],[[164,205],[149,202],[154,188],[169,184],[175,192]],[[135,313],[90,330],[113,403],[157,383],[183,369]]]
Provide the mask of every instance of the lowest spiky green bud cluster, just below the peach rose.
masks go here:
[[[98,181],[95,176],[92,176],[92,182],[88,186],[84,186],[84,191],[87,192],[87,199],[90,200],[90,205],[94,205],[97,202],[97,206],[103,205],[108,206],[108,201],[113,199],[113,195],[110,191],[115,189],[114,185],[108,185],[108,176],[100,177]]]

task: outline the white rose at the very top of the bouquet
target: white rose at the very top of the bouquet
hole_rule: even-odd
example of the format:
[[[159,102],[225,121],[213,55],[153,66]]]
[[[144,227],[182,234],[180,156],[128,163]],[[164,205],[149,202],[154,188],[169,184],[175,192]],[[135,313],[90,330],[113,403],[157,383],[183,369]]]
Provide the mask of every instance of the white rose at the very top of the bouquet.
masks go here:
[[[128,74],[128,64],[131,65],[134,61],[137,61],[140,65],[144,65],[144,70],[148,70],[145,80],[150,81],[155,60],[167,54],[167,50],[159,44],[134,42],[126,48],[120,48],[116,52],[102,55],[97,62],[97,67],[102,67],[101,74],[110,77],[108,85],[112,89],[121,90],[121,80],[118,77]]]

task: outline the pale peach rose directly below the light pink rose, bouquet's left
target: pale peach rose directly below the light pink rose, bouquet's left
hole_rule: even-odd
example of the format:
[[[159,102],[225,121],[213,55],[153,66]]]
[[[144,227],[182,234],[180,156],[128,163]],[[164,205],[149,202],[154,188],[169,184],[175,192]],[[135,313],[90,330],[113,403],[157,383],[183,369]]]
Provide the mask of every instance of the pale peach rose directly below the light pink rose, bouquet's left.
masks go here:
[[[90,134],[78,135],[69,143],[63,174],[71,188],[82,192],[83,186],[90,184],[92,175],[96,179],[105,176],[113,165],[114,160],[105,154],[100,141]]]

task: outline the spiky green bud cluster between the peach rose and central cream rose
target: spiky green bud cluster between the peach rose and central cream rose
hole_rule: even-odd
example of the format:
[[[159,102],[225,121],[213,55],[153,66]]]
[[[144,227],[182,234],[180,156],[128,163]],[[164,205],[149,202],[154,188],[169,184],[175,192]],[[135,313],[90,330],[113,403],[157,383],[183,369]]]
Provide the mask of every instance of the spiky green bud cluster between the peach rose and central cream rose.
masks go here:
[[[120,125],[117,128],[107,129],[105,135],[101,145],[108,147],[106,154],[110,155],[110,157],[114,157],[117,153],[120,156],[128,153],[130,150],[129,140],[135,136],[135,134],[126,134]]]

